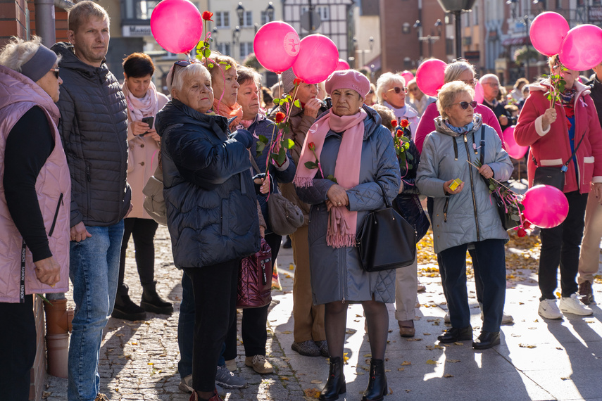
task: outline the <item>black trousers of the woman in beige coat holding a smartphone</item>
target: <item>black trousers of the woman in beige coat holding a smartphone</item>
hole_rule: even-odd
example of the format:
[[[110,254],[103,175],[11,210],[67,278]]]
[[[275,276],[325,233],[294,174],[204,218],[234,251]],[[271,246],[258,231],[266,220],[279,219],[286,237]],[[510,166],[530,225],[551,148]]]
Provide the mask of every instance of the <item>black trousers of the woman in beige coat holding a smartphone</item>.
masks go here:
[[[119,258],[119,281],[118,293],[125,291],[123,276],[125,275],[125,251],[130,235],[134,237],[134,250],[136,253],[136,266],[140,276],[140,284],[147,286],[153,284],[155,279],[155,245],[153,243],[155,232],[159,224],[153,219],[139,219],[132,217],[123,219],[123,242],[121,243],[121,255]]]

